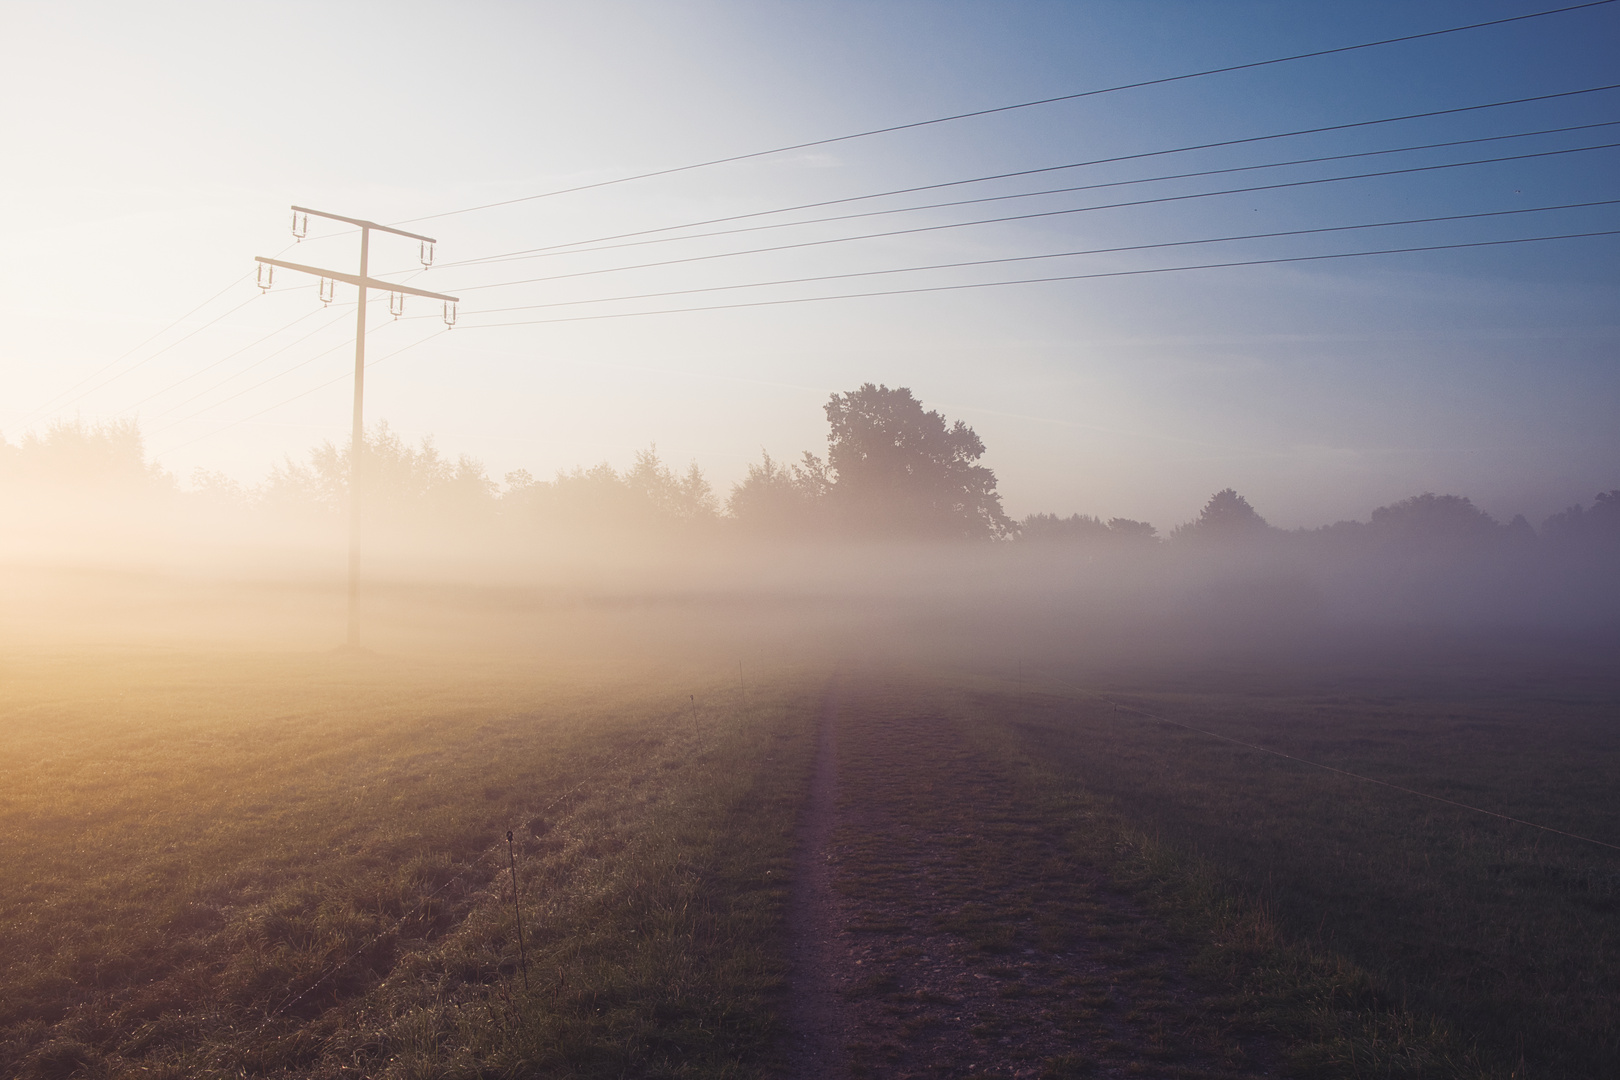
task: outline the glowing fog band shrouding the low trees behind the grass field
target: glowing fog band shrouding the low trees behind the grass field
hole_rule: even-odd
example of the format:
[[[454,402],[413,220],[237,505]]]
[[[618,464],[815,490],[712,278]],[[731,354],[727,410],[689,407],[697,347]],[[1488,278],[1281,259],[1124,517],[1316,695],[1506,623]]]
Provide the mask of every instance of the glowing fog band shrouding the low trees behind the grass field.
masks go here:
[[[828,463],[763,458],[723,500],[653,449],[627,471],[496,483],[379,427],[363,458],[361,643],[724,656],[745,670],[872,654],[1006,667],[1422,631],[1604,641],[1620,625],[1615,492],[1541,526],[1424,494],[1285,531],[1230,489],[1163,534],[1084,515],[1013,523],[974,442],[944,483],[977,483],[983,499],[930,520],[899,489],[834,499],[862,466],[831,442]],[[246,489],[201,473],[180,484],[131,424],[62,424],[3,450],[0,633],[13,644],[342,644],[347,452],[316,447]]]

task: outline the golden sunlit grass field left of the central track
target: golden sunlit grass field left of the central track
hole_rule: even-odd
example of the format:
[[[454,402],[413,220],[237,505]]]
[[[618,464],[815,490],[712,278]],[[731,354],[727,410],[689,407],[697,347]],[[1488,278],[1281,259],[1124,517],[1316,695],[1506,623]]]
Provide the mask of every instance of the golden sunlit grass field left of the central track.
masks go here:
[[[805,699],[713,672],[11,657],[0,1074],[757,1075]]]

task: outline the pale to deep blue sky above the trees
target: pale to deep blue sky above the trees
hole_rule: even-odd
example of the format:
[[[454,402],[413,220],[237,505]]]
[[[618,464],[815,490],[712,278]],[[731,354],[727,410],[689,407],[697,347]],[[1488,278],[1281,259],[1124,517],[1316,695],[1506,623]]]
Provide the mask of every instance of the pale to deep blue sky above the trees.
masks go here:
[[[1275,259],[1620,230],[1620,3],[608,181],[1555,6],[8,2],[0,436],[136,419],[246,484],[345,439],[355,290],[253,279],[356,270],[298,204],[437,240],[423,270],[373,235],[460,303],[373,296],[366,418],[497,479],[656,445],[724,494],[883,382],[974,426],[1014,517],[1168,531],[1236,487],[1290,528],[1426,491],[1539,521],[1620,487],[1620,236]],[[998,201],[932,206],[966,199]],[[1186,243],[1299,230],[1338,232]],[[896,272],[987,259],[1025,261]],[[1158,272],[1207,262],[1260,264]]]

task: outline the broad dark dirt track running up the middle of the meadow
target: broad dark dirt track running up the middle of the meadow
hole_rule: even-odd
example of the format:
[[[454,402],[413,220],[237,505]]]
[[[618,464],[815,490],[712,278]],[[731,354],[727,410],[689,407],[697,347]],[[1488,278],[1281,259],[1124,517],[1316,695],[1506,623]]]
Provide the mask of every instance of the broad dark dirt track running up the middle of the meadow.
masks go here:
[[[1184,942],[902,688],[828,693],[799,840],[792,1075],[1268,1075]]]

